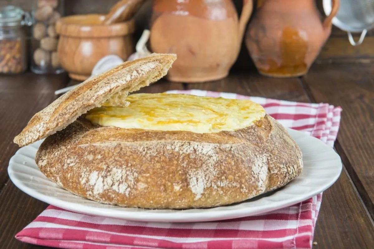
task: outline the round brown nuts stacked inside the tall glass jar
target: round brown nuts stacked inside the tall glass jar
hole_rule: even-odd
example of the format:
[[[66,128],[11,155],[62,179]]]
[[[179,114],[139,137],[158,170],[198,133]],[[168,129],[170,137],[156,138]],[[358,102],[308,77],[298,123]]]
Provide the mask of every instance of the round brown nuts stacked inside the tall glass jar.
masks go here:
[[[34,62],[43,68],[52,66],[59,68],[60,62],[57,55],[58,35],[56,22],[61,18],[56,10],[58,0],[38,0],[37,10],[34,13],[36,24],[33,37],[39,41],[39,46],[34,52]]]

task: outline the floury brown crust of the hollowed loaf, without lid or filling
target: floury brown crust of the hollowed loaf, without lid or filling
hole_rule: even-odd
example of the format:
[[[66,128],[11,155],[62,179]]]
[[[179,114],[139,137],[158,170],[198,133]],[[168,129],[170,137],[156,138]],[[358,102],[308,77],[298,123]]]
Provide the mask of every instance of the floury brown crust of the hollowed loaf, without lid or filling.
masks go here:
[[[84,118],[46,140],[40,171],[101,203],[150,209],[209,208],[277,189],[303,168],[301,151],[266,115],[234,132],[94,126]]]

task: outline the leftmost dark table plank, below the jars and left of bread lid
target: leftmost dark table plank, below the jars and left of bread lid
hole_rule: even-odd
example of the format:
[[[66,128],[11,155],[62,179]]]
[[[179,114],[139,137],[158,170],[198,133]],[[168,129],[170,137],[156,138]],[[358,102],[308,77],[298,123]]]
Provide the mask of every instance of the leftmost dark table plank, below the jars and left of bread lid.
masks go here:
[[[18,149],[13,138],[27,122],[55,99],[53,91],[64,87],[67,75],[43,76],[31,73],[0,77],[0,191],[8,179],[10,157]]]

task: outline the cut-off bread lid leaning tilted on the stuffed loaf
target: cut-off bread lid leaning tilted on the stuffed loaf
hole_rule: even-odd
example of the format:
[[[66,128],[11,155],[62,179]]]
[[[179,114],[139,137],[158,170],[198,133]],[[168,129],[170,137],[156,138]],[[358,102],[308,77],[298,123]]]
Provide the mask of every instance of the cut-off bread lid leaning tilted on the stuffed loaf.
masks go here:
[[[26,146],[50,136],[108,99],[114,105],[126,106],[124,98],[129,93],[165,76],[175,59],[174,54],[153,53],[89,78],[36,113],[14,142]]]

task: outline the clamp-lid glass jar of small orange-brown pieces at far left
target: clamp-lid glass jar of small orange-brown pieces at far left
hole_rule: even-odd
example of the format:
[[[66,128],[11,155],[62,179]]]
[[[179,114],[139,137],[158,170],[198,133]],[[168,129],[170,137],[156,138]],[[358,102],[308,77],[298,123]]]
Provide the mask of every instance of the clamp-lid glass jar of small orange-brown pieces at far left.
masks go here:
[[[0,73],[19,74],[27,69],[27,44],[24,25],[30,15],[21,8],[0,8]]]

